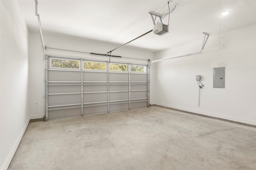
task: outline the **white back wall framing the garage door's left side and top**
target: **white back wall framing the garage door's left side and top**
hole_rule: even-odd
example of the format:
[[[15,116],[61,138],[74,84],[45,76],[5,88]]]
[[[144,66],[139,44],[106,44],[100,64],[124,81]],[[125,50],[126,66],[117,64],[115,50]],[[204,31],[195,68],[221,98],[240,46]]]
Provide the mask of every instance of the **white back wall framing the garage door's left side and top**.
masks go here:
[[[120,45],[103,43],[78,37],[59,35],[56,33],[44,33],[44,44],[46,47],[69,49],[75,51],[84,51],[92,53],[106,54]],[[84,53],[74,53],[46,49],[46,55],[74,56],[83,58],[92,58],[108,61],[108,57],[90,55]],[[112,55],[122,57],[132,57],[138,59],[154,59],[154,53],[130,48],[128,46],[117,49]],[[111,61],[133,62],[139,64],[148,64],[148,61],[133,60],[124,58],[111,58]],[[30,32],[29,36],[29,84],[30,84],[30,114],[32,118],[40,118],[44,115],[44,56],[39,33]]]

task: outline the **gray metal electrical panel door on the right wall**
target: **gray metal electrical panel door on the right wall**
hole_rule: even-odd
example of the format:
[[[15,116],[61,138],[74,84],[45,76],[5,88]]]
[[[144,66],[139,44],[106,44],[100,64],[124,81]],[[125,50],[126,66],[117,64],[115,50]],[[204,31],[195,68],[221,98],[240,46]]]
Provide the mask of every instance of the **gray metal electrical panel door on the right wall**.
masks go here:
[[[213,88],[225,88],[225,67],[213,68]]]

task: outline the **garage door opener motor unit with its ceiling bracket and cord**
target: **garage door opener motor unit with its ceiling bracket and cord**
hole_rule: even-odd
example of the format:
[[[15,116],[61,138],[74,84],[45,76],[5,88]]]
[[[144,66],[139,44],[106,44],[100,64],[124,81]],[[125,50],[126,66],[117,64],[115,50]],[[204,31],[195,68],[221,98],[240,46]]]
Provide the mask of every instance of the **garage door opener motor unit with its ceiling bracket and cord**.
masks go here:
[[[172,10],[170,10],[169,2],[172,2],[172,1],[171,0],[168,1],[169,12],[166,13],[166,14],[160,14],[160,13],[154,12],[154,11],[148,12],[148,14],[151,15],[152,21],[154,23],[154,26],[153,26],[153,33],[154,34],[164,35],[164,34],[169,32],[170,13],[172,13],[175,10],[176,6],[179,6],[179,4],[174,4],[174,7],[172,8]],[[169,14],[169,21],[168,21],[168,25],[166,25],[166,24],[162,23],[162,19],[164,17],[166,17],[168,14]],[[158,21],[156,23],[156,17],[159,17],[160,22]]]

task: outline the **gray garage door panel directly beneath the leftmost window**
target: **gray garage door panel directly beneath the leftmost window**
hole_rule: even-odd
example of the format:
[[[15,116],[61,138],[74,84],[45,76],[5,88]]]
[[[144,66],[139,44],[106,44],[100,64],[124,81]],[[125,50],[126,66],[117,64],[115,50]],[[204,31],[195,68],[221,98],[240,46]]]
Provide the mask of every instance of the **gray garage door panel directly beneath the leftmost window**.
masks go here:
[[[48,70],[48,81],[81,81],[81,72]]]

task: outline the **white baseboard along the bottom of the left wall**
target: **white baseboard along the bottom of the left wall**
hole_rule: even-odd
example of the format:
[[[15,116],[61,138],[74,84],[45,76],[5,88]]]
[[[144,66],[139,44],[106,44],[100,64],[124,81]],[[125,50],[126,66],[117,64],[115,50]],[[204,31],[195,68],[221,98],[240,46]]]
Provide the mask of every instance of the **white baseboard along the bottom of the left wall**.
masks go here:
[[[9,154],[8,154],[8,156],[7,156],[7,158],[6,158],[6,160],[4,161],[4,164],[3,164],[2,167],[1,167],[1,170],[7,170],[8,166],[9,166],[10,162],[12,161],[12,158],[13,158],[13,156],[14,156],[14,154],[15,154],[15,152],[16,152],[16,150],[17,150],[19,144],[20,144],[20,141],[21,141],[21,139],[22,139],[22,137],[23,137],[23,135],[24,135],[24,132],[26,131],[26,129],[27,129],[27,127],[28,127],[29,121],[30,121],[30,117],[28,117],[28,119],[27,119],[25,125],[23,126],[23,128],[22,128],[22,130],[21,130],[19,136],[17,137],[17,139],[16,139],[16,141],[15,141],[15,143],[14,143],[12,149],[10,150],[10,152],[9,152]]]

